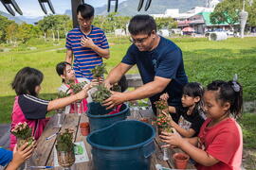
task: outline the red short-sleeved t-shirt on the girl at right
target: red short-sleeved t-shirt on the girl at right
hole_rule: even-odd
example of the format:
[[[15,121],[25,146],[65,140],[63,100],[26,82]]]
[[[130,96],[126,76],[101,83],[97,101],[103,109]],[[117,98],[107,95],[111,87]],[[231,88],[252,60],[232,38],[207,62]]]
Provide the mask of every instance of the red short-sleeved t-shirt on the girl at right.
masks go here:
[[[196,164],[199,170],[239,170],[243,153],[243,134],[241,127],[232,118],[221,121],[213,127],[207,127],[207,119],[198,135],[200,147],[210,156],[219,160],[212,166]]]

